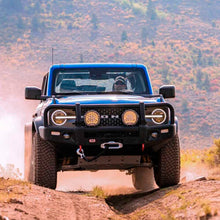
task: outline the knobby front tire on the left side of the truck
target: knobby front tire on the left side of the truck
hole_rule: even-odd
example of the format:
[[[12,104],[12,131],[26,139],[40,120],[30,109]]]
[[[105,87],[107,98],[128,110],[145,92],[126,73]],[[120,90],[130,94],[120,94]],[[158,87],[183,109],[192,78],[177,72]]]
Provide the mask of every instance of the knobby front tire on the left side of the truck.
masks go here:
[[[38,133],[33,135],[32,140],[29,181],[50,189],[55,189],[57,184],[55,148],[42,140]]]

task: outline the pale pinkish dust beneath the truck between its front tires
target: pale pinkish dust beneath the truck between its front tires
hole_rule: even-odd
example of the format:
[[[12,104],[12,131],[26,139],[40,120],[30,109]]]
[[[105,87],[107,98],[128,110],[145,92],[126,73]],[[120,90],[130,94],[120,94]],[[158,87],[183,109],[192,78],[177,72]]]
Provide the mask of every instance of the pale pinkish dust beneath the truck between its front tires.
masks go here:
[[[134,192],[131,175],[118,170],[100,170],[97,172],[74,171],[59,172],[57,190],[91,191],[100,186],[107,194]]]

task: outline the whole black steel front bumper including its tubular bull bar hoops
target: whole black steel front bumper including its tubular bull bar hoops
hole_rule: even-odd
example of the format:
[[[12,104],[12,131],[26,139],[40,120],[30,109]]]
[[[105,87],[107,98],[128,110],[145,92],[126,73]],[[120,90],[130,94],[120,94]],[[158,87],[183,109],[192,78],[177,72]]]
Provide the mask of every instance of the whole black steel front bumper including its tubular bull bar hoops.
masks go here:
[[[146,123],[145,110],[150,108],[167,108],[169,109],[169,121],[161,125],[149,125]],[[76,112],[76,121],[68,127],[53,126],[48,123],[48,114],[51,109],[69,108]],[[121,115],[125,109],[135,109],[139,114],[139,122],[137,126],[125,126],[122,123],[100,123],[97,127],[87,127],[83,123],[83,117],[87,110],[93,109],[100,113],[100,115]],[[107,112],[106,112],[107,111]],[[116,112],[115,112],[116,111]],[[177,123],[175,122],[174,109],[168,103],[150,103],[144,104],[140,102],[138,105],[92,105],[84,106],[80,104],[72,105],[50,105],[44,111],[43,125],[39,127],[39,133],[42,139],[53,142],[59,146],[71,145],[88,147],[93,151],[94,148],[100,148],[101,144],[108,142],[121,143],[126,153],[128,148],[146,149],[158,147],[164,141],[172,138],[177,133]],[[143,147],[142,147],[143,146]],[[120,152],[118,150],[117,152]],[[135,150],[131,150],[131,154]]]

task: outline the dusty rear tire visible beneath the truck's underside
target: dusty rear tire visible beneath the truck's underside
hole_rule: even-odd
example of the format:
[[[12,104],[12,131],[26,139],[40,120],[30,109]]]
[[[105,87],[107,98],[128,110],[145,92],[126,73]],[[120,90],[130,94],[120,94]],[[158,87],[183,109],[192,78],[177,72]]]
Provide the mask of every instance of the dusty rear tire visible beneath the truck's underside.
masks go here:
[[[135,189],[148,191],[154,188],[153,169],[148,167],[136,167],[132,170],[132,183]]]

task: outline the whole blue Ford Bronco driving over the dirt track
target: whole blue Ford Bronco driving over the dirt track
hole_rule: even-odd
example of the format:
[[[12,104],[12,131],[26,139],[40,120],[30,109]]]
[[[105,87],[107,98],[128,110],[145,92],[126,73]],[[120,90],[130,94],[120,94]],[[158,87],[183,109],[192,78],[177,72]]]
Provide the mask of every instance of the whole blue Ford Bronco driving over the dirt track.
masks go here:
[[[25,88],[40,100],[25,125],[25,179],[55,189],[58,171],[118,169],[144,190],[152,170],[159,187],[178,184],[173,97],[172,85],[153,94],[142,64],[52,65],[41,89]]]

